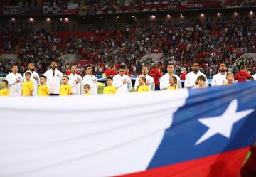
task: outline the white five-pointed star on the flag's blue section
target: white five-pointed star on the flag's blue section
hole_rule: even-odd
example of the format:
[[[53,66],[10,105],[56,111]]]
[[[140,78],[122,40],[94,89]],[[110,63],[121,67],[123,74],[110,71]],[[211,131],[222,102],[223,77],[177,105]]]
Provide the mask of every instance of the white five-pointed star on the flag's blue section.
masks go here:
[[[215,134],[221,134],[227,138],[230,138],[232,127],[235,122],[245,118],[248,114],[251,114],[255,109],[249,109],[246,111],[236,112],[238,109],[238,100],[233,100],[228,105],[225,112],[217,117],[198,119],[199,122],[209,127],[207,132],[201,136],[195,145],[201,144],[203,141],[210,139]]]

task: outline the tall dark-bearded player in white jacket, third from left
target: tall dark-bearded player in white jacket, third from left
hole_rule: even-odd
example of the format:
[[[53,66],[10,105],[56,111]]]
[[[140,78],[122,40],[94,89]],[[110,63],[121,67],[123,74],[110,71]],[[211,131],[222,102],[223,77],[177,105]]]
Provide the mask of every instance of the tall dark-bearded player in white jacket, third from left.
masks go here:
[[[55,60],[50,63],[50,70],[47,70],[46,73],[43,74],[46,76],[47,85],[50,88],[50,95],[59,95],[60,94],[60,81],[63,77],[63,73],[61,73],[57,69],[57,62]]]

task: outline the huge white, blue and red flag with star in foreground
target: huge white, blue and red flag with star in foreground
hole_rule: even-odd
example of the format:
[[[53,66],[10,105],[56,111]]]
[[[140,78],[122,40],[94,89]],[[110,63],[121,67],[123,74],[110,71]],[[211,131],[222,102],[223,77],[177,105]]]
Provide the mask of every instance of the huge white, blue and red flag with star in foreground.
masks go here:
[[[0,176],[233,177],[256,140],[256,82],[0,99]]]

